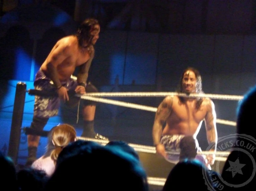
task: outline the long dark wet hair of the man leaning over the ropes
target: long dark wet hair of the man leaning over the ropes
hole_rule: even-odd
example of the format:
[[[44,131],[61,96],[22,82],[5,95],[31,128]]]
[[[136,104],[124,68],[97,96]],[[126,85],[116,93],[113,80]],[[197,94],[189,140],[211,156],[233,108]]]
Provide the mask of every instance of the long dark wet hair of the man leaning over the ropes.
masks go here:
[[[80,24],[76,33],[80,47],[88,48],[92,45],[94,36],[91,35],[91,31],[94,29],[95,25],[99,25],[99,21],[94,18],[88,18]],[[84,42],[86,42],[86,46],[84,45]]]

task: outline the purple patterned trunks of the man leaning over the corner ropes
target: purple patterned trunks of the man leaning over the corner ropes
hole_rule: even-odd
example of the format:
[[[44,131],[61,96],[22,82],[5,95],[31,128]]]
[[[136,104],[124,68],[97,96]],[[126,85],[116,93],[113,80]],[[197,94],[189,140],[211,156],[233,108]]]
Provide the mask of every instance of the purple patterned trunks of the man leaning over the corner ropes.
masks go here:
[[[65,82],[61,82],[62,86],[68,90],[74,90],[77,87],[77,81],[70,78]],[[34,81],[34,87],[36,90],[45,90],[49,92],[56,91],[53,81],[47,77],[42,70],[38,70],[36,73],[36,79]],[[58,97],[41,97],[35,96],[34,104],[34,116],[39,118],[50,118],[58,115],[60,107],[60,98]]]

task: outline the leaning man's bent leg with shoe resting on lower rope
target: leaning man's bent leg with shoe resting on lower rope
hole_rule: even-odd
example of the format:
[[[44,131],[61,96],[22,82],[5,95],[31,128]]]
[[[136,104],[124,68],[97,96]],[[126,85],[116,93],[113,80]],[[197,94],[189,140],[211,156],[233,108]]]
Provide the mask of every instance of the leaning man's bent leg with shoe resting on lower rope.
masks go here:
[[[86,85],[86,92],[98,92],[97,88],[91,83]],[[94,117],[96,111],[96,102],[90,100],[83,101],[83,132],[82,137],[96,138],[96,139],[106,139],[108,138],[99,135],[94,131]]]

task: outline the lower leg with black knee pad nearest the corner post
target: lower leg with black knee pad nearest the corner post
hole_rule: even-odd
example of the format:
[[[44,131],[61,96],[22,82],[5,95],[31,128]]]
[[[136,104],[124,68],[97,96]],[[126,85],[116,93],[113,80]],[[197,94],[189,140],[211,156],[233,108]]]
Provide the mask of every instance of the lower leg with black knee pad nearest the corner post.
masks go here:
[[[37,131],[42,131],[46,123],[48,122],[48,119],[49,118],[38,118],[34,116],[33,121],[30,125],[30,128]],[[27,140],[28,140],[28,158],[27,158],[26,166],[30,166],[36,160],[36,153],[37,153],[40,137],[37,135],[28,135]]]

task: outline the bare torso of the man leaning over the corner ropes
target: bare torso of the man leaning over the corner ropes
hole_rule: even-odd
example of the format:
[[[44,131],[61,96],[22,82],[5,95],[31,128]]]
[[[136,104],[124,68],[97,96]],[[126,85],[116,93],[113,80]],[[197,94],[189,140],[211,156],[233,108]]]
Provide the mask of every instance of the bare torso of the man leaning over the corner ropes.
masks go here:
[[[78,46],[76,36],[68,36],[60,39],[41,66],[47,74],[47,64],[52,63],[58,73],[60,81],[65,81],[71,77],[76,67],[81,66],[90,59],[88,50],[82,50]]]

